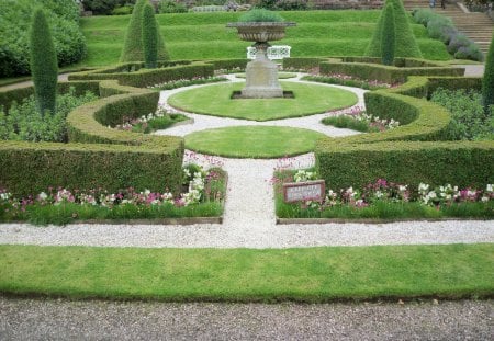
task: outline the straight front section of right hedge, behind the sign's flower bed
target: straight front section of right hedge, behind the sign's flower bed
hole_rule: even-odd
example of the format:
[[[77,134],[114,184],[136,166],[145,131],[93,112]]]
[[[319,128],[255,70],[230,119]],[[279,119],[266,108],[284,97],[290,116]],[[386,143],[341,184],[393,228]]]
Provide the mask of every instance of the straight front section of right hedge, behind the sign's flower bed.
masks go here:
[[[333,190],[363,187],[380,178],[415,187],[420,182],[463,187],[494,182],[493,141],[341,145],[334,140],[319,144],[316,155],[318,172]]]

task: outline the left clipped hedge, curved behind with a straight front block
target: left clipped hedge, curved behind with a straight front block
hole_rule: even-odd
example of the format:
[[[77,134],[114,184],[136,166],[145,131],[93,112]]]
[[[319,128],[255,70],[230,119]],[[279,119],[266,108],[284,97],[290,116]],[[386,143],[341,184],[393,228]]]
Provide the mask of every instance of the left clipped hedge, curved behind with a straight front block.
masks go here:
[[[111,192],[133,186],[178,192],[181,185],[183,139],[120,132],[106,127],[123,115],[138,116],[155,111],[158,92],[119,86],[116,81],[75,82],[99,87],[101,99],[87,103],[68,117],[69,143],[0,141],[0,187],[15,195],[46,191],[48,186]],[[72,82],[59,83],[67,89]],[[15,92],[19,92],[15,95]],[[33,92],[9,91],[12,98]],[[0,92],[0,99],[5,100]]]

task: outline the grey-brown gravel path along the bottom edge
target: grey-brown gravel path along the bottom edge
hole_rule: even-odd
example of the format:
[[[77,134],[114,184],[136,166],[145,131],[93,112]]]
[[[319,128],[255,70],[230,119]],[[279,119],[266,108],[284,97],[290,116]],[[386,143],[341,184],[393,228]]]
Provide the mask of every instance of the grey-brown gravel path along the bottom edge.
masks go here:
[[[1,340],[492,340],[494,303],[164,304],[0,297]]]

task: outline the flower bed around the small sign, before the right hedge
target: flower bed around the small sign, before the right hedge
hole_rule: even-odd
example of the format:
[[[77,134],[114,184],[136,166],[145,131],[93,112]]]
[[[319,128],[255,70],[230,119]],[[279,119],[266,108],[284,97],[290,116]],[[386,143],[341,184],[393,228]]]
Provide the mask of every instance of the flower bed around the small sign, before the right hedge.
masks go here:
[[[459,189],[450,184],[431,186],[378,179],[361,189],[327,189],[323,202],[284,203],[282,184],[315,180],[316,172],[280,170],[273,178],[276,209],[279,218],[337,219],[420,219],[420,218],[494,218],[494,190]]]

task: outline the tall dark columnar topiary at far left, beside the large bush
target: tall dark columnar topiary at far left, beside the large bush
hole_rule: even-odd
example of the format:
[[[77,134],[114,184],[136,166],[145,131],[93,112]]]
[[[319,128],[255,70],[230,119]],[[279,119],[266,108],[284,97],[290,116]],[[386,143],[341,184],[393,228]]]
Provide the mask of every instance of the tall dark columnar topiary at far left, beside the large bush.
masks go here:
[[[34,96],[40,113],[55,113],[58,64],[48,22],[43,10],[36,9],[30,32],[30,65]]]

